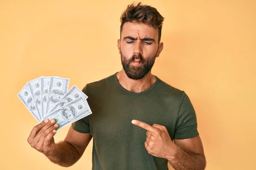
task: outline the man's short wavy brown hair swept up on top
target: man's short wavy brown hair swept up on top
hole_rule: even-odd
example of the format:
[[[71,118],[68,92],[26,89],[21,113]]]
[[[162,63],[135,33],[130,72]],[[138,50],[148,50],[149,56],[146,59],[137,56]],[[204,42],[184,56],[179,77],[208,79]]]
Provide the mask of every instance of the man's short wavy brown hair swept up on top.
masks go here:
[[[134,3],[127,6],[125,11],[120,17],[120,37],[122,33],[122,27],[127,22],[145,23],[158,30],[158,43],[161,40],[161,32],[163,26],[164,17],[157,11],[156,8]]]

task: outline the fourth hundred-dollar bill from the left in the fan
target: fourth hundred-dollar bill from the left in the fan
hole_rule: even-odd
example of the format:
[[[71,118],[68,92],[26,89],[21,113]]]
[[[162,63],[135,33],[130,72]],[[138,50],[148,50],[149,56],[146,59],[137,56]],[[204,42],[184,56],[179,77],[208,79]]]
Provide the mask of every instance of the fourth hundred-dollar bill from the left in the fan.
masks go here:
[[[46,112],[47,115],[49,111],[54,108],[55,105],[64,97],[68,91],[69,79],[60,77],[50,77],[49,90],[47,94],[47,105]]]

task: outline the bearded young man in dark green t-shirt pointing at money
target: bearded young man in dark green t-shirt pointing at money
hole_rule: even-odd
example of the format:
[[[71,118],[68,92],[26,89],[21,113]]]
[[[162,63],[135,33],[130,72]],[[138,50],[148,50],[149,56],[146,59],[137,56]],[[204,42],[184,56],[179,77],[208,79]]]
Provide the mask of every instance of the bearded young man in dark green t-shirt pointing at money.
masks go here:
[[[151,74],[164,18],[151,6],[131,4],[121,16],[122,71],[87,84],[91,115],[74,122],[55,143],[55,120],[35,126],[29,144],[69,167],[93,137],[93,170],[204,170],[206,160],[195,110],[184,91]]]

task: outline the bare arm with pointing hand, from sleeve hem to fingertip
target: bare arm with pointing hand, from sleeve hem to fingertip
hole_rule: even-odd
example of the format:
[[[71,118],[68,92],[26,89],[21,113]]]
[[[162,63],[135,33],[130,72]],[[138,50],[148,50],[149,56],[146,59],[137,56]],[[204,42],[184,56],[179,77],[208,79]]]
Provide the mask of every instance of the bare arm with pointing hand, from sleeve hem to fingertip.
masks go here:
[[[172,142],[165,126],[133,120],[132,123],[142,127],[146,132],[145,148],[149,154],[168,159],[175,170],[204,170],[206,160],[200,136],[190,139],[174,139]]]

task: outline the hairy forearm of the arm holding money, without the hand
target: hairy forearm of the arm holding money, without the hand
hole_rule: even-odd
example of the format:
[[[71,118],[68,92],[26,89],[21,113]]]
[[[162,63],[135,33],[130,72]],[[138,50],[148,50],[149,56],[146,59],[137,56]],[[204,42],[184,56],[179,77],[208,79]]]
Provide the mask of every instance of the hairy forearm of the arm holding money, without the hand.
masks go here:
[[[70,167],[81,157],[77,149],[66,141],[56,143],[51,154],[45,154],[47,158],[62,167]]]

